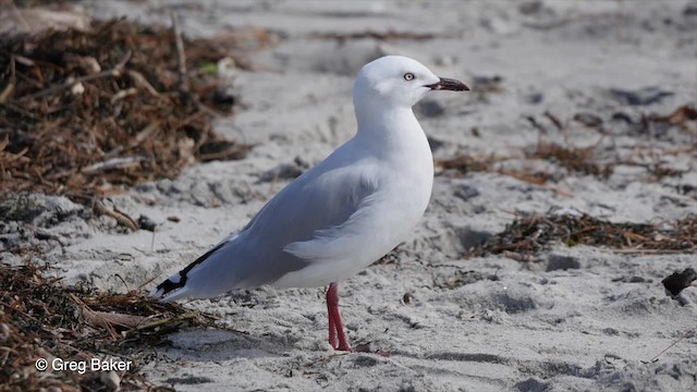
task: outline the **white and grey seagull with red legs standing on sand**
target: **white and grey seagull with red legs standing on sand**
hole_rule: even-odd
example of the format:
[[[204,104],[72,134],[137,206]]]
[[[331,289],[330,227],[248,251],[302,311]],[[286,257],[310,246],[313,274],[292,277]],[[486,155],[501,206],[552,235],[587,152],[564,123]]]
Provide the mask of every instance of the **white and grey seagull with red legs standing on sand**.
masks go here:
[[[353,87],[358,125],[353,138],[152,295],[173,301],[261,285],[328,285],[329,343],[353,351],[341,322],[338,284],[403,242],[426,211],[433,157],[412,107],[439,90],[469,88],[406,57],[364,65]]]

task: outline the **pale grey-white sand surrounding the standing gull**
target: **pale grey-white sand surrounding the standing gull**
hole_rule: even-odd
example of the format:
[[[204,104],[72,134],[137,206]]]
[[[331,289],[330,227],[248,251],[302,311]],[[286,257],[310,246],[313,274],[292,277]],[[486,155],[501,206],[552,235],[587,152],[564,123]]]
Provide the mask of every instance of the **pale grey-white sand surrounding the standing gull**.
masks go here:
[[[374,350],[391,354],[388,358],[333,356],[322,289],[261,287],[189,303],[219,314],[224,326],[241,332],[176,333],[172,347],[145,365],[148,377],[181,391],[697,390],[695,335],[658,362],[645,363],[695,329],[697,289],[686,289],[675,301],[660,282],[675,270],[694,268],[696,255],[636,256],[558,245],[531,265],[503,256],[458,256],[482,235],[501,231],[516,210],[575,208],[617,222],[670,221],[697,211],[695,123],[692,136],[678,127],[657,125],[651,134],[640,127],[641,113],[668,114],[697,102],[697,3],[542,1],[538,10],[519,4],[87,3],[98,17],[125,14],[160,23],[175,9],[189,36],[259,25],[283,38],[252,58],[272,72],[236,76],[244,107],[218,123],[219,132],[258,144],[247,159],[200,164],[173,181],[113,198],[129,213],[162,223],[152,249],[149,232],[124,234],[107,218],[93,224],[75,220],[51,229],[69,246],[48,259],[70,281],[85,279],[102,289],[125,291],[124,282],[132,289],[167,278],[242,228],[289,181],[259,182],[265,173],[293,164],[296,157],[314,164],[351,137],[351,84],[365,62],[381,54],[409,56],[474,89],[433,94],[416,108],[429,137],[442,144],[437,159],[458,152],[519,157],[500,164],[551,169],[559,181],[537,186],[496,173],[437,176],[426,216],[394,254],[396,262],[371,266],[339,286],[350,341],[372,342]],[[310,37],[368,30],[435,38],[339,42]],[[502,78],[498,91],[482,90],[476,82],[494,76]],[[647,100],[657,91],[671,95],[632,106],[612,89]],[[546,111],[566,124],[566,135]],[[573,121],[576,113],[598,115],[609,135]],[[615,113],[634,124],[611,120]],[[597,144],[599,163],[660,160],[690,172],[657,182],[645,168],[625,164],[602,180],[524,159],[539,136],[525,117],[536,118],[548,142],[566,137],[577,147]],[[680,151],[665,152],[671,149]],[[692,191],[681,192],[686,185]],[[169,216],[181,222],[167,221]],[[456,283],[465,273],[479,279]],[[404,303],[407,293],[411,301]]]

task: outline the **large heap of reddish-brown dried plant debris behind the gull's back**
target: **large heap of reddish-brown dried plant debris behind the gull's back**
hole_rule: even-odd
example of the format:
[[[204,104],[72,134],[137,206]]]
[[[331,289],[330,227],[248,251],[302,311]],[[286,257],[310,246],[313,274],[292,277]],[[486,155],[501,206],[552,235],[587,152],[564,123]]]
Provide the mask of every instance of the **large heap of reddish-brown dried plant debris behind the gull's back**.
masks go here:
[[[231,57],[246,44],[182,40],[178,51],[178,40],[125,20],[0,37],[2,188],[89,198],[196,160],[243,158],[250,146],[216,134],[211,120],[235,103],[217,64],[244,63]]]

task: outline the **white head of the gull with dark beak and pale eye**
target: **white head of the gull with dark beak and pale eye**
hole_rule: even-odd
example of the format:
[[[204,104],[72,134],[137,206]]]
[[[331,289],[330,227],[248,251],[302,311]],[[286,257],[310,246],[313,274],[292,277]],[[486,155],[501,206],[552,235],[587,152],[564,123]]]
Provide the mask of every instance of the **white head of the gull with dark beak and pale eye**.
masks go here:
[[[386,56],[360,69],[353,86],[353,101],[356,110],[370,107],[411,108],[432,90],[468,89],[460,81],[436,76],[416,60]]]

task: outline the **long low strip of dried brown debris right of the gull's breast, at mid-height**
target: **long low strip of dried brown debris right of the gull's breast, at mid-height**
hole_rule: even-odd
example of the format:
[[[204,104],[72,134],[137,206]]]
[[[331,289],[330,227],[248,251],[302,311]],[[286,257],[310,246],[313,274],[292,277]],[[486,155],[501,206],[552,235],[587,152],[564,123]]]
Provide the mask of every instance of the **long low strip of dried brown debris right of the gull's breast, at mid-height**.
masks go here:
[[[467,256],[505,254],[528,257],[557,243],[607,246],[623,254],[670,254],[697,250],[697,216],[670,223],[613,223],[586,213],[550,210],[521,215],[506,229],[470,249]]]

